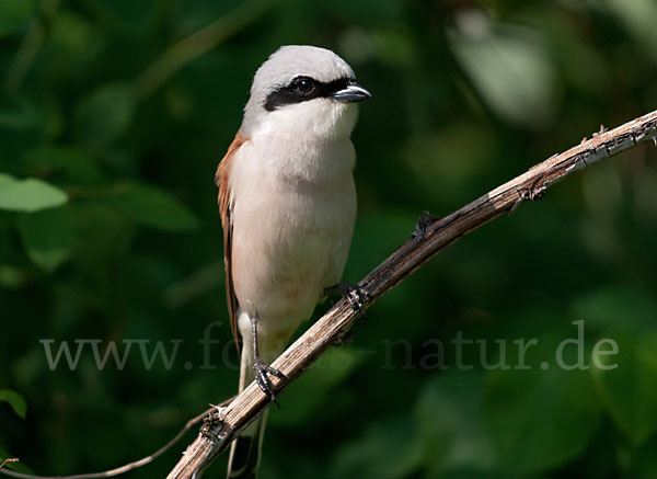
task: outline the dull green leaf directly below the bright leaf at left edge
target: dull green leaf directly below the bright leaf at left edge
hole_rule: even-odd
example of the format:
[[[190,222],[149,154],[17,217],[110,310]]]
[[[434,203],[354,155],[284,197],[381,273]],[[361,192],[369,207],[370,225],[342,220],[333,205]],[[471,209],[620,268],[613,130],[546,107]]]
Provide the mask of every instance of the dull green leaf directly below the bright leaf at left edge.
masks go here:
[[[64,208],[19,216],[19,231],[30,260],[45,271],[55,271],[71,254],[73,227]]]

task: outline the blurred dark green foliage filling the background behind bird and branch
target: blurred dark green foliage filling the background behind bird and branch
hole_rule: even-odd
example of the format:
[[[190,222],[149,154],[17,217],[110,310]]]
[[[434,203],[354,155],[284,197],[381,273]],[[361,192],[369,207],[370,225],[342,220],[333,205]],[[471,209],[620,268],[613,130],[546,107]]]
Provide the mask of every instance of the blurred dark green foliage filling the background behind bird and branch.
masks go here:
[[[212,179],[279,45],[336,50],[373,93],[355,282],[423,209],[654,110],[656,18],[652,0],[0,1],[0,457],[107,469],[235,391]],[[656,477],[656,159],[585,170],[382,298],[270,411],[263,477]],[[79,362],[51,369],[62,341]]]

